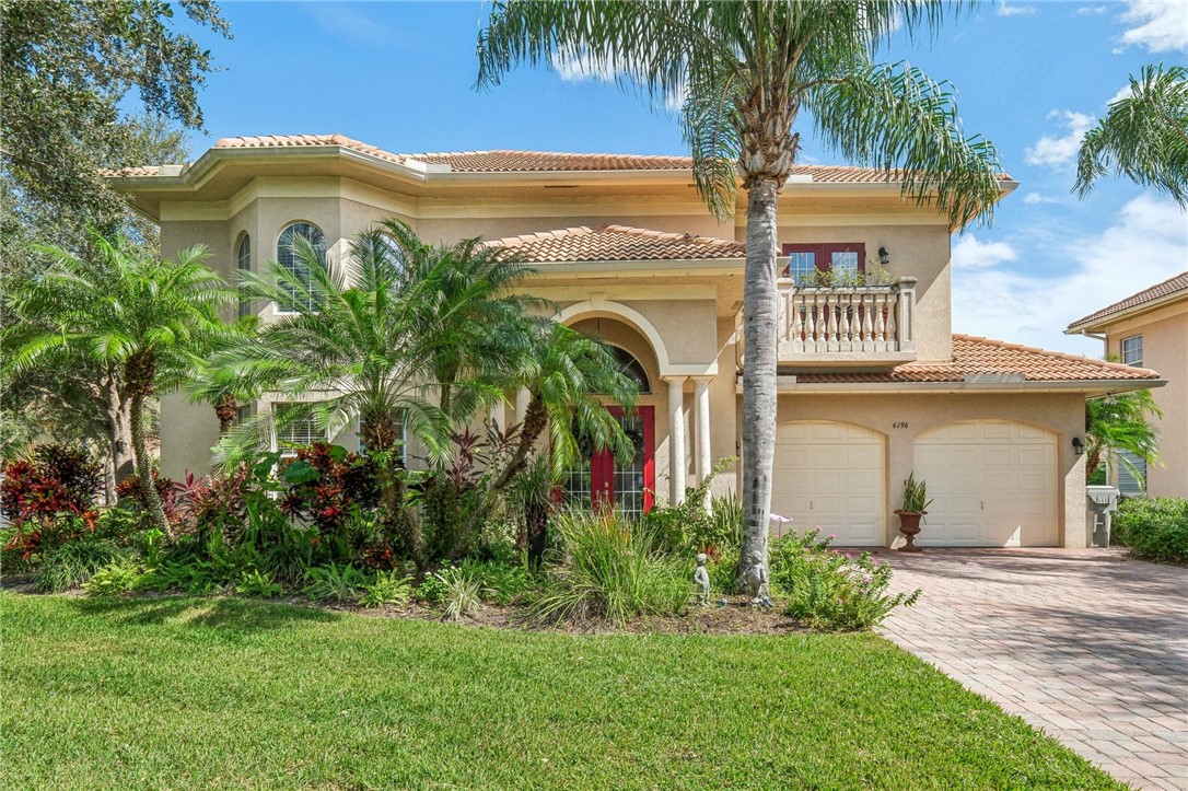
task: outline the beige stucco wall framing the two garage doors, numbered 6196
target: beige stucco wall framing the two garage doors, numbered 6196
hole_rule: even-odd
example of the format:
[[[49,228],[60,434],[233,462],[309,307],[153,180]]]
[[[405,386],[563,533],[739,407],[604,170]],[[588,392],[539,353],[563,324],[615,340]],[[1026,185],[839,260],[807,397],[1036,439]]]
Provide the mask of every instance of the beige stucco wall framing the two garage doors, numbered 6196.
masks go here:
[[[777,422],[835,420],[861,426],[886,441],[886,545],[898,536],[903,481],[915,463],[921,435],[960,420],[1016,420],[1050,431],[1056,437],[1057,534],[1062,546],[1086,546],[1085,457],[1073,453],[1073,437],[1085,429],[1083,398],[1079,393],[784,393]],[[741,397],[738,398],[741,411]],[[895,428],[905,424],[905,428]],[[776,481],[776,486],[795,482]]]

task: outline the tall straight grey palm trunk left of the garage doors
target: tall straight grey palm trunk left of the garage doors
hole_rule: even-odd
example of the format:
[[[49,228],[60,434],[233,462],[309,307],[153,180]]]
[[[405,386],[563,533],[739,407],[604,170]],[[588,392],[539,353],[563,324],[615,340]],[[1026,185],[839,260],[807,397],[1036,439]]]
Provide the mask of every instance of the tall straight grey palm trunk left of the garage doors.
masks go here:
[[[779,182],[747,190],[746,272],[742,285],[742,524],[739,569],[753,556],[767,563],[771,468],[776,455],[776,201]],[[748,558],[751,558],[748,561]]]

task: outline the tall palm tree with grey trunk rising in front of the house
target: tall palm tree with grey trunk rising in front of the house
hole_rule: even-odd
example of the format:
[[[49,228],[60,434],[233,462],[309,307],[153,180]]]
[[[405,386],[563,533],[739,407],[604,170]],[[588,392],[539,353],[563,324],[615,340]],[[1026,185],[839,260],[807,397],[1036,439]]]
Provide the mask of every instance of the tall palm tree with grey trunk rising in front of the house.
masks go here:
[[[873,52],[902,24],[940,23],[939,0],[506,0],[479,34],[480,87],[522,62],[612,70],[653,100],[687,91],[681,118],[694,181],[719,217],[747,192],[742,372],[742,557],[767,556],[776,444],[777,201],[800,150],[801,109],[817,135],[955,226],[998,200],[994,147],[967,138],[948,86]]]

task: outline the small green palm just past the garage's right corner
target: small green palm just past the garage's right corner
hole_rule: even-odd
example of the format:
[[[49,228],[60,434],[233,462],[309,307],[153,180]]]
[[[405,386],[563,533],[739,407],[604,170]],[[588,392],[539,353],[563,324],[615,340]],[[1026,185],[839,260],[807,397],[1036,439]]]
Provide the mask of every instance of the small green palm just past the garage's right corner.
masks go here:
[[[1148,463],[1159,463],[1158,432],[1149,417],[1163,417],[1149,390],[1089,399],[1085,403],[1085,436],[1088,439],[1085,475],[1088,477],[1105,462],[1119,458],[1139,481],[1143,473],[1127,457],[1138,456]]]

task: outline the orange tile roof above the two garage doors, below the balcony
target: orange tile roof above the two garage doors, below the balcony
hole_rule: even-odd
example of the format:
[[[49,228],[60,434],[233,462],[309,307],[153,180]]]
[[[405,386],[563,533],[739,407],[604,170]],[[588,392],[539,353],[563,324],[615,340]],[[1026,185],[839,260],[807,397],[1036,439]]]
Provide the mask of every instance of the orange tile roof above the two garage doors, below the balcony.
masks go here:
[[[1100,381],[1158,379],[1146,368],[1133,368],[1031,346],[973,335],[953,336],[950,362],[911,362],[886,373],[797,373],[797,384],[946,382],[966,381]]]

